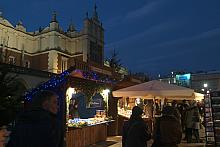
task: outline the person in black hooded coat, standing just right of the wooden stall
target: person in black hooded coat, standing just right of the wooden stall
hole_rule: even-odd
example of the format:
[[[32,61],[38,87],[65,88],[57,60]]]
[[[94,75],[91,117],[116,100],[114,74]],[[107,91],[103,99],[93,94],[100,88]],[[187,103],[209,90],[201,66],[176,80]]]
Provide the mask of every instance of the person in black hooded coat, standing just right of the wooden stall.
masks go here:
[[[140,107],[133,107],[130,119],[123,125],[123,147],[147,147],[147,141],[150,140],[151,134],[141,117],[142,114],[143,110]]]

